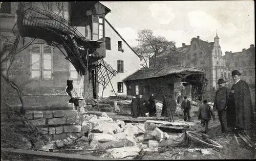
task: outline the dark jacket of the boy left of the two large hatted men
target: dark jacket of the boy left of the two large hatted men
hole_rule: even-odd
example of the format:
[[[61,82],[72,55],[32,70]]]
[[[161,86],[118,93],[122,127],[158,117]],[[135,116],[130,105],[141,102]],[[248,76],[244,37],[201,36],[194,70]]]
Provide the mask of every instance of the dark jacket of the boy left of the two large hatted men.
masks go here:
[[[214,111],[210,108],[209,104],[203,103],[199,105],[198,119],[210,120],[211,116],[215,118]]]

